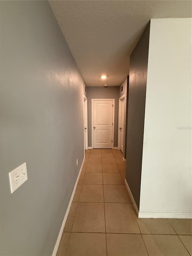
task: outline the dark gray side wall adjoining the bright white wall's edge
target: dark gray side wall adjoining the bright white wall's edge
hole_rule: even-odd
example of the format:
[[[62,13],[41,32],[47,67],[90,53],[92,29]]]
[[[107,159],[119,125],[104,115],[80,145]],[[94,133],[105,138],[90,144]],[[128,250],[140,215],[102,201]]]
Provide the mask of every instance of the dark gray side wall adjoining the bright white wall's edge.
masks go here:
[[[130,57],[126,180],[139,209],[150,23]]]

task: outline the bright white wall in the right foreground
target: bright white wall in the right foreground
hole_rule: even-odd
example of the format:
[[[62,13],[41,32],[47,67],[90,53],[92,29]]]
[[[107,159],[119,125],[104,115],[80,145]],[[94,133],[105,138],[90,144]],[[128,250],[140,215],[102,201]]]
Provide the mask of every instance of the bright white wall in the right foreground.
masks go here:
[[[162,217],[191,212],[191,21],[151,20],[140,212]]]

